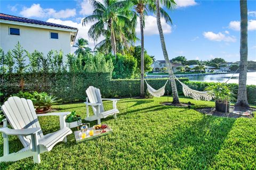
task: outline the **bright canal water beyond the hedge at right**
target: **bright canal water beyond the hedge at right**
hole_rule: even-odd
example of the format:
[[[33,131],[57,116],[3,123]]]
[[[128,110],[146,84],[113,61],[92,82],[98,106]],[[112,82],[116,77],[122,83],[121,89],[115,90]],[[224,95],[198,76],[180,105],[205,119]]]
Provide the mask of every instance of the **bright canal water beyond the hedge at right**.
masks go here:
[[[233,73],[227,74],[212,74],[212,75],[195,75],[189,78],[190,81],[204,81],[204,82],[226,82]],[[228,83],[238,83],[239,73],[234,74],[233,78],[231,78]],[[247,73],[247,85],[256,85],[256,72],[248,72]]]

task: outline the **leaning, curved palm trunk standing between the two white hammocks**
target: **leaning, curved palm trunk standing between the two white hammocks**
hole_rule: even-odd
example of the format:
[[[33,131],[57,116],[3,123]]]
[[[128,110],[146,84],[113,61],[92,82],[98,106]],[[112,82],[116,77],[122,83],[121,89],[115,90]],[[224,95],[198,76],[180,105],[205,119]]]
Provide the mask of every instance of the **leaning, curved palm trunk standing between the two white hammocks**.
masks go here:
[[[159,0],[156,0],[156,22],[157,22],[157,27],[158,27],[158,31],[159,31],[160,40],[161,40],[162,50],[163,50],[163,54],[164,54],[164,60],[165,60],[166,67],[167,67],[170,81],[171,81],[172,96],[173,96],[172,103],[177,104],[177,103],[180,103],[180,101],[179,101],[178,91],[177,91],[177,87],[176,87],[176,83],[175,83],[175,79],[174,79],[174,74],[172,71],[172,65],[169,60],[168,53],[167,53],[167,50],[165,47],[164,33],[163,33],[160,19],[161,18],[160,18],[160,11],[159,11]]]

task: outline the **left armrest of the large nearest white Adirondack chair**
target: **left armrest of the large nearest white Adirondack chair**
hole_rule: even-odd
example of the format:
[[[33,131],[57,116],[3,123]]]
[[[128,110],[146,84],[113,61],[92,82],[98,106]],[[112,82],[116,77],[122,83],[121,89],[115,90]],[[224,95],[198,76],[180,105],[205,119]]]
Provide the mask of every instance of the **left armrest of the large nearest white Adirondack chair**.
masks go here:
[[[41,128],[28,128],[28,129],[9,129],[9,128],[0,128],[0,132],[7,135],[22,135],[27,136],[39,132]]]

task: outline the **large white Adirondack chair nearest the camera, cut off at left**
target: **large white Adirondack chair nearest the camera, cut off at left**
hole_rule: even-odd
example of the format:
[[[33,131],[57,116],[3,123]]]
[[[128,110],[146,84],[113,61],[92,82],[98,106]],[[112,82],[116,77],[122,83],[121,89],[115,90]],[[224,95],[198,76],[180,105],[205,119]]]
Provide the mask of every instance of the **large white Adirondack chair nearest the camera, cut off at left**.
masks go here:
[[[13,129],[7,128],[5,118],[4,126],[0,128],[4,139],[4,156],[0,157],[0,162],[14,162],[33,156],[34,163],[40,163],[39,154],[50,151],[60,141],[67,142],[66,136],[72,133],[65,123],[69,112],[36,115],[32,101],[25,98],[10,97],[2,106],[2,111]],[[53,115],[60,118],[60,130],[44,135],[37,117]],[[8,135],[18,135],[24,148],[9,154]]]

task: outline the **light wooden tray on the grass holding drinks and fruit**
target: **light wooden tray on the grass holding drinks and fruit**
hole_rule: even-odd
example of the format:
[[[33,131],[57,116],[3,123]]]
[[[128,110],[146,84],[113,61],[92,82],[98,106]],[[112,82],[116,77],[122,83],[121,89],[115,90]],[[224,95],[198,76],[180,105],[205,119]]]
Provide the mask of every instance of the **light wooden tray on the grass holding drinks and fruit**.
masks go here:
[[[89,131],[93,130],[93,136],[89,135]],[[107,128],[105,129],[105,133],[101,133],[102,130],[94,130],[93,128],[89,128],[88,132],[86,132],[86,137],[82,139],[82,137],[79,137],[79,132],[80,131],[75,131],[75,138],[76,138],[76,143],[87,141],[87,140],[92,140],[94,138],[99,138],[102,137],[103,135],[113,133],[113,130],[107,125]]]

